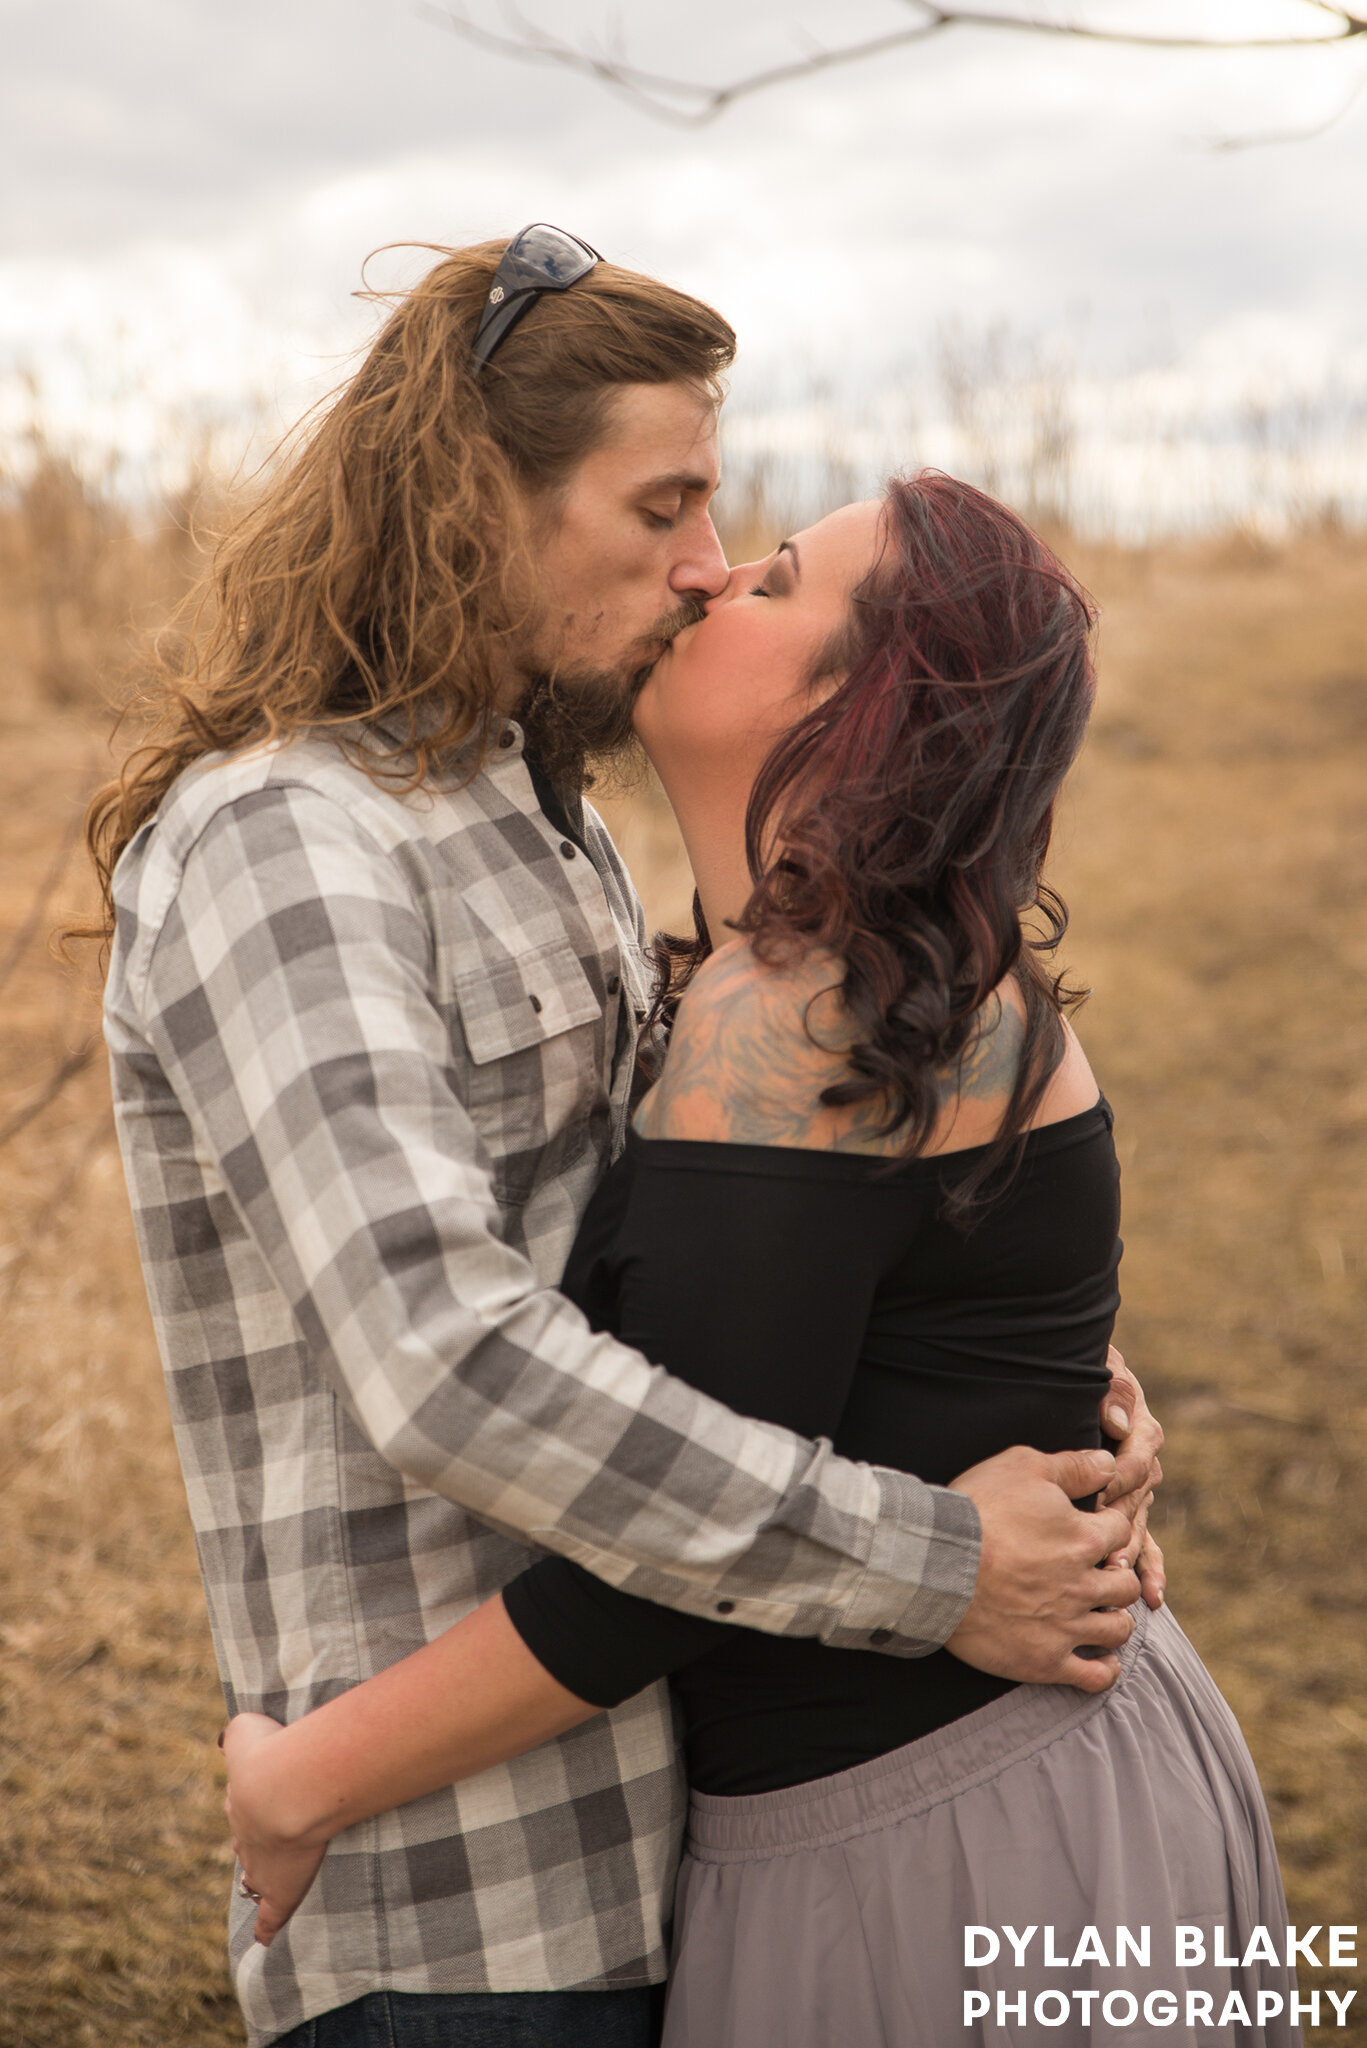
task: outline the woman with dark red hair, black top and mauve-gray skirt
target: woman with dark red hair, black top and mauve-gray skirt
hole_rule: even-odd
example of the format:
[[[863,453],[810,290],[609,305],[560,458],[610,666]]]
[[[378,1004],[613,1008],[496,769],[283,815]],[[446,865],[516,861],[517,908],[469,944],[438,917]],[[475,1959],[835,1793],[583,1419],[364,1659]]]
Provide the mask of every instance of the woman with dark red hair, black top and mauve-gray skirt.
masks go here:
[[[1099,1442],[1111,1114],[1041,965],[1088,635],[1010,512],[922,475],[738,569],[637,705],[699,940],[672,944],[668,1061],[566,1290],[734,1407],[941,1483]],[[1285,1901],[1252,1763],[1164,1612],[1135,1608],[1105,1694],[736,1620],[545,1559],[293,1726],[240,1716],[260,1935],[338,1829],[672,1673],[693,1815],[668,2048],[1008,2040],[1031,2015],[1135,2040],[1142,2007],[1195,2042],[1240,2019],[1230,1993],[1240,2038],[1297,2038],[1256,1942]],[[1180,1964],[1178,1923],[1240,1962]]]

